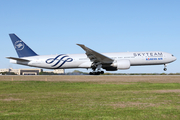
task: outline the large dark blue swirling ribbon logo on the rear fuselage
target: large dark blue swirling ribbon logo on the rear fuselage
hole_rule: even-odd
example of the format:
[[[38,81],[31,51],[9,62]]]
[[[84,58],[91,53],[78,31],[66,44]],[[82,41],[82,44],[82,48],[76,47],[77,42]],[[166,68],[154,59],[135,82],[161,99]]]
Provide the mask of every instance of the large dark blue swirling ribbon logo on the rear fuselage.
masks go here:
[[[55,58],[49,58],[46,60],[47,64],[52,64],[52,67],[61,68],[66,62],[72,62],[73,59],[68,55],[60,54]]]

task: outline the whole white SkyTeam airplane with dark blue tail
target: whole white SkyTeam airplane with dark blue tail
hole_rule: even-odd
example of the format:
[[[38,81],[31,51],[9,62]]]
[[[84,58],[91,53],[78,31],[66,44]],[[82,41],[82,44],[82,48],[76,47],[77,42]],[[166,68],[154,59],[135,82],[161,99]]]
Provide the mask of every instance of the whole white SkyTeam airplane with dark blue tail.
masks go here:
[[[91,68],[90,75],[106,71],[126,70],[131,66],[164,65],[176,60],[170,53],[160,51],[98,53],[83,44],[77,44],[85,54],[38,55],[15,34],[9,34],[17,57],[7,57],[11,63],[46,69]]]

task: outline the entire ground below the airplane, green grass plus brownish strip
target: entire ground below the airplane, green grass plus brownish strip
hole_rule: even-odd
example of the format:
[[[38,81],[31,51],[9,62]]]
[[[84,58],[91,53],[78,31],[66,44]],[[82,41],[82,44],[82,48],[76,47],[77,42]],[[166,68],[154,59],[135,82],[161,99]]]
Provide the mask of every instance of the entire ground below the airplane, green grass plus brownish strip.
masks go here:
[[[180,76],[0,76],[0,119],[179,120]]]

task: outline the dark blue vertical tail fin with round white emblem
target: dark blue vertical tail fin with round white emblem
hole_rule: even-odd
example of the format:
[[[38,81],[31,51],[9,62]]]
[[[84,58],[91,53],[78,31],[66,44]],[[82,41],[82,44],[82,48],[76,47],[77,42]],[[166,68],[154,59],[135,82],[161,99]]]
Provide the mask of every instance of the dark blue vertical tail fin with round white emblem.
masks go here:
[[[12,43],[19,58],[37,56],[37,54],[29,46],[27,46],[18,36],[16,36],[15,34],[9,34],[9,36],[12,40]]]

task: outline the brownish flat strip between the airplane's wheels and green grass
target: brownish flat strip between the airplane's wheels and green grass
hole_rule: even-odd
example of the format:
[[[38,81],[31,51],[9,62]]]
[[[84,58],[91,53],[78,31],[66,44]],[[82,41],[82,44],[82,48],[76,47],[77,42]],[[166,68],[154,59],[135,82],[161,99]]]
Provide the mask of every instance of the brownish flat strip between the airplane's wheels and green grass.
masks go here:
[[[39,75],[39,76],[0,76],[0,81],[69,81],[69,82],[149,82],[149,83],[180,83],[179,75]]]

